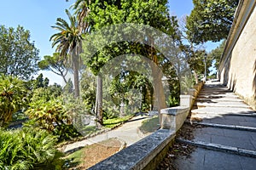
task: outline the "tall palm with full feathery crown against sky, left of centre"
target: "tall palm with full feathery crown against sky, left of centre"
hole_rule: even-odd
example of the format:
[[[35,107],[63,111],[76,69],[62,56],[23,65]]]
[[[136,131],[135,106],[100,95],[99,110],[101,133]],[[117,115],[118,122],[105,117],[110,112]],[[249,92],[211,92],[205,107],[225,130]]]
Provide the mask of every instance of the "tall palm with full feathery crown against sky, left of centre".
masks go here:
[[[74,96],[79,97],[79,66],[82,64],[79,53],[82,47],[82,33],[79,31],[79,24],[76,17],[71,15],[66,9],[66,14],[70,21],[68,25],[66,20],[57,19],[56,26],[52,28],[58,30],[50,37],[52,47],[56,47],[56,52],[59,52],[62,57],[73,67],[73,81],[74,81]]]

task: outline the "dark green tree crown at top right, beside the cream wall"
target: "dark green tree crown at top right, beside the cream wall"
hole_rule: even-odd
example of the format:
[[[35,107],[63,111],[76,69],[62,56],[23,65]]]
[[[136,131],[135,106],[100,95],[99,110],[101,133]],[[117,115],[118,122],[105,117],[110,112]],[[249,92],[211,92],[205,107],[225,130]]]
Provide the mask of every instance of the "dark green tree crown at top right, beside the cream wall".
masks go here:
[[[193,0],[187,18],[187,32],[192,42],[218,42],[226,38],[234,20],[239,0]]]

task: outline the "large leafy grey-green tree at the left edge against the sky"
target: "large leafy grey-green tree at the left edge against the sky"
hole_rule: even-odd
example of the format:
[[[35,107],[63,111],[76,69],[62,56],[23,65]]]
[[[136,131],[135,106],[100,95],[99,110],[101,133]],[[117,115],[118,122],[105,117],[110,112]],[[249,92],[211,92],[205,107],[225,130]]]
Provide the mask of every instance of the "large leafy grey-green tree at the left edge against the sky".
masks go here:
[[[0,26],[0,72],[28,80],[38,71],[39,50],[30,40],[30,32]]]

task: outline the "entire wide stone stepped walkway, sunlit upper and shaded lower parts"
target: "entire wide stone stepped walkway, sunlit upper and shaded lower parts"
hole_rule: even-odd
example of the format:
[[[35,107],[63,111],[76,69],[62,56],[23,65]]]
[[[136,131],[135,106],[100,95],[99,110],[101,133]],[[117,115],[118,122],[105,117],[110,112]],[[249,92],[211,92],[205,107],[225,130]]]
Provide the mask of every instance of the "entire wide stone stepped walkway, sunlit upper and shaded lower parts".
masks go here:
[[[256,111],[236,94],[219,82],[207,82],[191,115],[193,124],[200,125],[193,130],[194,139],[177,140],[194,145],[195,150],[189,157],[178,156],[175,168],[256,169]]]

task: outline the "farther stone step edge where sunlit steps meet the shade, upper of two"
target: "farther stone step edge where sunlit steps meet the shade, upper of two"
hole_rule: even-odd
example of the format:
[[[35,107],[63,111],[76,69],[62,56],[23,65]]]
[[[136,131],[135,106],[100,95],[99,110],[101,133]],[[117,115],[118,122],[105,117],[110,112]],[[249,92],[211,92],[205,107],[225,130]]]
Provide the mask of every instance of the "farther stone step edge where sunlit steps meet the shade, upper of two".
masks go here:
[[[186,123],[190,123],[190,122],[186,121]],[[206,126],[206,127],[218,127],[218,128],[228,128],[228,129],[256,132],[256,127],[244,127],[244,126],[237,126],[237,125],[223,125],[223,124],[216,124],[216,123],[209,123],[209,122],[193,122],[193,124],[203,125],[203,126]]]

